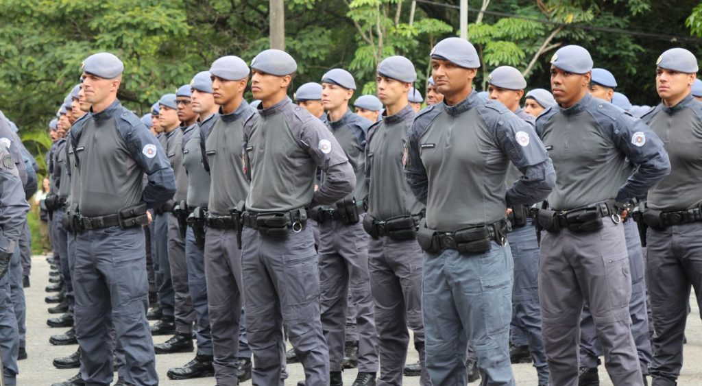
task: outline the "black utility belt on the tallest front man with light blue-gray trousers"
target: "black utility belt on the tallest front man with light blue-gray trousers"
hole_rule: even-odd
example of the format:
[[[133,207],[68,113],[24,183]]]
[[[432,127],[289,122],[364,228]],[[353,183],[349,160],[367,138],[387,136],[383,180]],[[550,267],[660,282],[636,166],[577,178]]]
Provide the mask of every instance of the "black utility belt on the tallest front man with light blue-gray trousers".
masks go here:
[[[439,253],[444,249],[455,249],[461,253],[485,253],[492,248],[492,241],[505,245],[507,222],[500,220],[492,224],[456,229],[453,232],[438,232],[420,227],[417,242],[423,251]]]

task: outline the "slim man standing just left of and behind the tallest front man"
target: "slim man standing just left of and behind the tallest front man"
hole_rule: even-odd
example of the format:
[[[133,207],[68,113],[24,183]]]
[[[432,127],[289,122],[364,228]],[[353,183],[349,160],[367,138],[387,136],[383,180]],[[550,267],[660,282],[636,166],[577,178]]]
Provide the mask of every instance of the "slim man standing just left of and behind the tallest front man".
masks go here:
[[[416,78],[414,65],[403,56],[380,62],[376,87],[385,112],[382,120],[369,128],[366,144],[369,194],[364,229],[371,235],[368,260],[376,306],[380,385],[402,383],[408,329],[414,333],[419,353],[420,385],[431,385],[424,366],[422,255],[414,237],[424,206],[412,196],[402,173],[402,149],[415,115],[407,98]]]

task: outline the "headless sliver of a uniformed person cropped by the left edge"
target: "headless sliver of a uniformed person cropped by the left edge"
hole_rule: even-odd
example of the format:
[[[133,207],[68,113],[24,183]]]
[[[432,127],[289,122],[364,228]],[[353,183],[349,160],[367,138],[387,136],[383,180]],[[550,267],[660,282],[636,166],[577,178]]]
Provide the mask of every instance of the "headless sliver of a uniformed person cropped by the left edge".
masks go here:
[[[6,122],[0,120],[3,130]],[[5,137],[4,137],[5,138]],[[21,161],[21,160],[20,160]],[[11,260],[24,227],[29,205],[25,201],[22,180],[15,159],[6,144],[0,146],[0,355],[5,385],[17,384],[20,336],[10,293]]]

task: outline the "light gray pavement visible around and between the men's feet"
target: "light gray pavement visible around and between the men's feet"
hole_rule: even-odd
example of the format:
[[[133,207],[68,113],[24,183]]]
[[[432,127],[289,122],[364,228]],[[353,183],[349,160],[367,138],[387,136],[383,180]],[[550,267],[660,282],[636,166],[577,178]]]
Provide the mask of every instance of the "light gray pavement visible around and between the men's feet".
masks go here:
[[[46,319],[50,317],[46,311],[48,305],[44,302],[46,292],[44,287],[48,284],[48,264],[44,256],[35,256],[32,261],[32,286],[26,288],[27,295],[27,352],[29,359],[20,361],[20,375],[18,385],[22,386],[43,386],[51,385],[72,377],[77,373],[77,369],[58,370],[54,368],[51,361],[55,357],[62,357],[77,350],[77,346],[53,346],[48,343],[48,338],[52,334],[62,333],[64,329],[49,328],[46,326]],[[685,346],[685,363],[682,376],[678,385],[702,385],[702,322],[696,302],[691,301],[692,313],[687,328],[688,344]],[[155,342],[164,342],[168,337],[160,336],[154,339]],[[168,368],[182,366],[194,357],[190,354],[170,354],[157,356],[157,370],[161,376],[161,385],[214,385],[214,378],[201,378],[198,380],[173,381],[166,377]],[[416,352],[411,350],[408,361],[416,361]],[[517,385],[536,386],[536,371],[529,364],[519,364],[513,366]],[[303,379],[303,369],[300,364],[289,366],[290,378],[286,385],[296,385],[298,380]],[[351,385],[355,379],[355,371],[344,373],[345,385]],[[600,366],[600,378],[602,385],[611,385],[604,366]],[[115,378],[116,380],[116,378]],[[251,381],[244,382],[243,385],[251,385]],[[404,385],[419,385],[418,378],[405,378]],[[474,383],[473,385],[477,385]]]

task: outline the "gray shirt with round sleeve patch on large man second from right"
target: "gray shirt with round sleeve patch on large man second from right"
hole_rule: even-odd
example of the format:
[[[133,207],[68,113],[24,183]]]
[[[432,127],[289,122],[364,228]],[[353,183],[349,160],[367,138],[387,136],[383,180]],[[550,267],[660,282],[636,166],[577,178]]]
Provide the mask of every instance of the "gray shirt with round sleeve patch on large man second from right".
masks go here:
[[[567,109],[549,107],[536,119],[536,130],[556,170],[548,202],[557,210],[641,197],[670,173],[668,154],[649,126],[590,94]],[[628,161],[637,171],[622,186]]]

